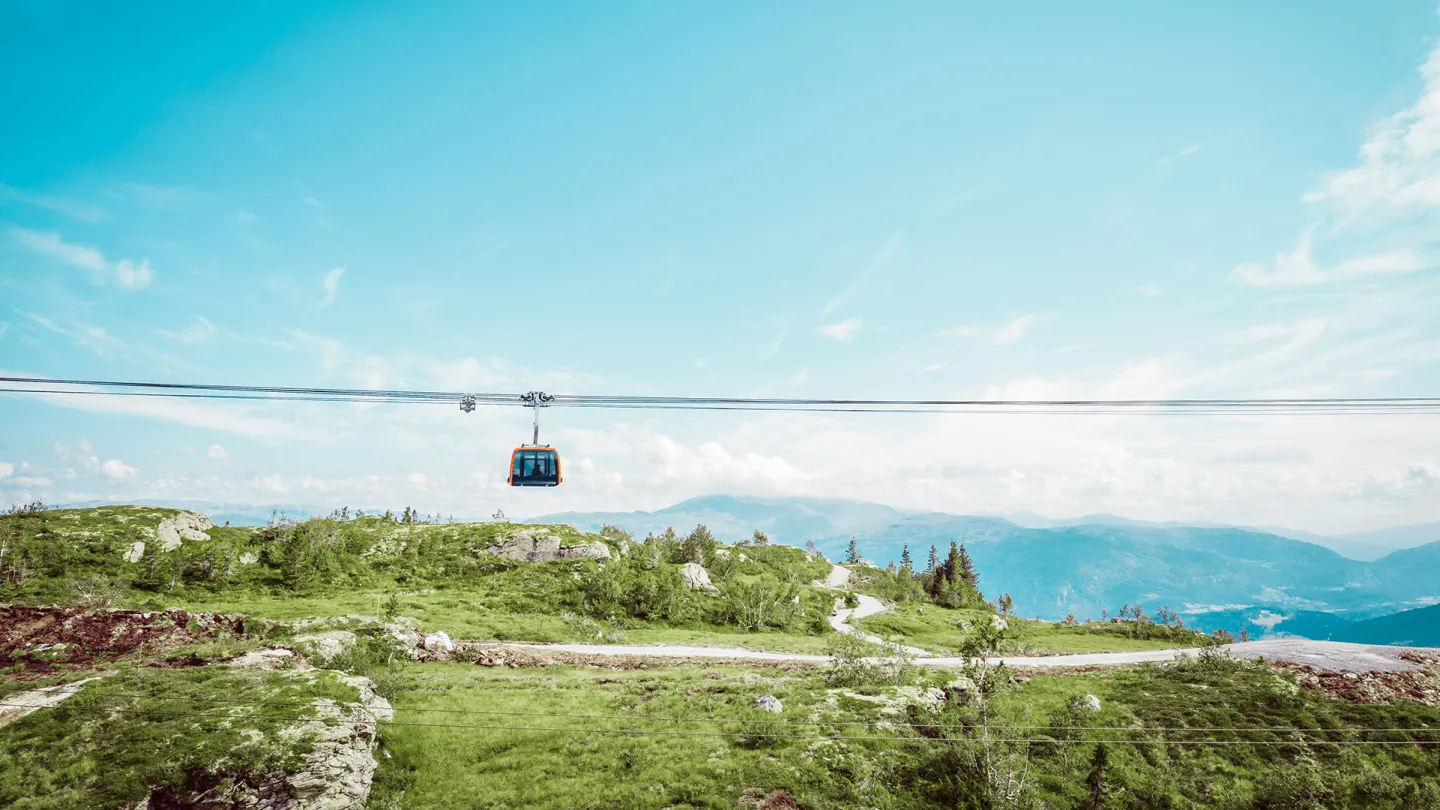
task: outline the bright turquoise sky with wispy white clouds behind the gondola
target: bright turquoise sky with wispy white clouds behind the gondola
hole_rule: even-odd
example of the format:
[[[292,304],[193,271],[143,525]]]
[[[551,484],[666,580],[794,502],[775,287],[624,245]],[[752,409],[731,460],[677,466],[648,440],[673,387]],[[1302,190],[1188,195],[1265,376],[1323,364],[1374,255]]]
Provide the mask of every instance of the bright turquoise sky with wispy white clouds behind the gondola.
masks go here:
[[[0,0],[0,373],[805,398],[1434,396],[1440,16]],[[0,504],[707,493],[1325,533],[1440,417],[0,395]]]

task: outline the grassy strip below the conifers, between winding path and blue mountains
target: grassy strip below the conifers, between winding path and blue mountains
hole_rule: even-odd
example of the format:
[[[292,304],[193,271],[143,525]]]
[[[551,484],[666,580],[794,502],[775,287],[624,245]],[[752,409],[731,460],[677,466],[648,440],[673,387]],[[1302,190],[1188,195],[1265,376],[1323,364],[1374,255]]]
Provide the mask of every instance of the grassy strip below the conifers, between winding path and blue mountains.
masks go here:
[[[903,637],[903,643],[933,653],[956,653],[966,630],[960,623],[973,626],[979,621],[994,621],[995,614],[981,610],[955,610],[933,604],[901,602],[893,611],[860,620],[865,633],[890,640]],[[1119,653],[1129,650],[1166,650],[1174,647],[1197,647],[1207,643],[1201,633],[1179,630],[1165,631],[1158,638],[1133,638],[1125,624],[1080,624],[1066,627],[1047,621],[1004,617],[1008,624],[1009,647],[1015,654],[1068,654],[1068,653]],[[1153,628],[1156,633],[1161,628]]]

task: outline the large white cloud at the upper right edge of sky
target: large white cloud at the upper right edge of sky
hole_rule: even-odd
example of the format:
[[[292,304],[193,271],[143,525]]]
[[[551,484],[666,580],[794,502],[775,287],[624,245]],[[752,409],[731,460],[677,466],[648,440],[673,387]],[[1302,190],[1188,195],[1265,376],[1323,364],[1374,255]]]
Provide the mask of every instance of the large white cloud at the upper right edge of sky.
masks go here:
[[[1306,202],[1329,202],[1349,218],[1375,221],[1440,206],[1440,48],[1420,76],[1420,98],[1371,128],[1359,166],[1325,174]]]

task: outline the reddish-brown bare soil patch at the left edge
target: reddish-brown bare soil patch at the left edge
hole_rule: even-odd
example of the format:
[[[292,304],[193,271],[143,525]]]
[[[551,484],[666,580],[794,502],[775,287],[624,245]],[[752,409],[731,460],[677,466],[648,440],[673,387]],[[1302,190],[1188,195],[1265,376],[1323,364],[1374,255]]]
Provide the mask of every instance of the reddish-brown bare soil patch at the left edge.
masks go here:
[[[46,670],[154,654],[222,633],[240,636],[243,624],[239,614],[0,605],[0,667]]]

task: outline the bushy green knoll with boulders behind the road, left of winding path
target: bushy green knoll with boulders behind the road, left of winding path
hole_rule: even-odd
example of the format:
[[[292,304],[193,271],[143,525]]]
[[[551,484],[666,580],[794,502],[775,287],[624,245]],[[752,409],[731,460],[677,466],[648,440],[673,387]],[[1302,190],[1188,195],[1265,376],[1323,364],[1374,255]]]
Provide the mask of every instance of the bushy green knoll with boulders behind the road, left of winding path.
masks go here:
[[[213,528],[166,551],[156,528],[176,515],[120,506],[0,516],[0,602],[181,607],[278,621],[408,615],[425,630],[477,640],[634,637],[816,650],[829,631],[831,597],[811,587],[827,562],[768,542],[724,546],[704,526],[635,542],[611,528],[590,535],[346,512]],[[521,535],[557,538],[560,548],[603,545],[611,559],[491,553]],[[714,592],[685,587],[687,562],[707,569]]]

